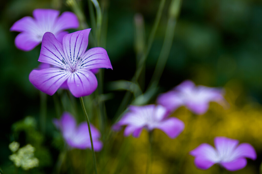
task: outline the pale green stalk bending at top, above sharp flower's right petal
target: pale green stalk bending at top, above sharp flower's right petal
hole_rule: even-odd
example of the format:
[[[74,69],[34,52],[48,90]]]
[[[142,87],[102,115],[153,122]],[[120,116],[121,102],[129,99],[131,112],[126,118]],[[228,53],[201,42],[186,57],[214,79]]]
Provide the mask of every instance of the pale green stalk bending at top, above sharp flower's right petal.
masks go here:
[[[90,1],[94,4],[96,9],[96,39],[97,39],[97,46],[100,46],[102,12],[97,0],[90,0]]]

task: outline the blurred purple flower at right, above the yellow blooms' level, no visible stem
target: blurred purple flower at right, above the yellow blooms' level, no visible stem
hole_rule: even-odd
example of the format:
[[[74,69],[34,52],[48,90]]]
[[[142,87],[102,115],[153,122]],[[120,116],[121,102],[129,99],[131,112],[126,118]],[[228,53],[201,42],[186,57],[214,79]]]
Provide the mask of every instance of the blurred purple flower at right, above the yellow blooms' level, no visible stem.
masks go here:
[[[161,94],[157,98],[157,103],[165,106],[171,112],[180,106],[185,106],[197,115],[204,114],[212,101],[221,105],[226,103],[222,89],[196,86],[190,80],[182,82],[173,90]]]

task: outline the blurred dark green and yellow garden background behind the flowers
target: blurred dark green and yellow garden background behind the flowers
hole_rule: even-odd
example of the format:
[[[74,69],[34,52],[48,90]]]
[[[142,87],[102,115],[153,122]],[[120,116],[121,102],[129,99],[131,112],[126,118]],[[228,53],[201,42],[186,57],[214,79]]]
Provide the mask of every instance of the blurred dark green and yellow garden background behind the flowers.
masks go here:
[[[95,95],[84,98],[91,122],[100,129],[104,142],[103,150],[97,153],[99,172],[145,173],[147,132],[143,131],[141,137],[135,139],[124,138],[122,131],[113,133],[109,140],[106,132],[116,119],[118,107],[126,93],[124,90],[116,90],[118,86],[115,83],[112,85],[112,81],[132,79],[136,59],[139,57],[137,52],[144,48],[143,42],[148,40],[160,1],[99,2],[104,12],[101,46],[106,48],[113,70],[102,70],[102,75],[97,75],[100,80],[103,79],[103,83],[99,81],[99,90],[104,95],[101,93],[98,98]],[[143,92],[150,83],[162,48],[170,2],[166,0],[152,48],[139,79]],[[77,3],[90,24],[87,1]],[[1,2],[0,167],[4,173],[14,173],[15,167],[8,158],[12,154],[8,145],[15,140],[21,146],[32,144],[36,148],[35,156],[40,161],[39,167],[29,171],[19,169],[19,173],[92,173],[91,151],[74,149],[65,153],[62,150],[64,142],[61,134],[52,123],[52,119],[59,118],[63,111],[71,112],[78,122],[85,121],[78,99],[63,90],[54,96],[43,96],[35,89],[28,76],[39,65],[37,59],[41,45],[30,52],[20,51],[14,45],[18,33],[9,31],[15,21],[24,16],[32,16],[36,8],[72,11],[68,3],[62,0]],[[138,35],[139,26],[142,26],[139,31],[144,38]],[[230,108],[224,110],[220,105],[212,103],[210,110],[194,118],[193,123],[190,122],[193,116],[186,108],[181,107],[175,111],[172,116],[185,122],[185,131],[173,140],[163,132],[155,131],[153,173],[221,173],[217,165],[206,171],[196,169],[194,158],[188,155],[190,150],[201,143],[214,145],[213,139],[216,136],[252,144],[258,158],[255,161],[248,160],[247,167],[234,173],[259,173],[262,160],[261,31],[262,1],[183,0],[166,67],[157,91],[148,103],[155,103],[157,94],[172,89],[185,79],[191,79],[196,84],[224,87]],[[141,42],[137,42],[139,39]],[[41,95],[42,98],[46,97],[46,103],[40,102]],[[106,122],[99,120],[99,101],[104,102],[102,108],[106,109],[106,114],[102,115],[106,117]],[[45,105],[46,110],[43,109]],[[42,130],[41,114],[47,116],[45,129]],[[185,138],[188,134],[191,137],[189,139]],[[64,160],[61,162],[60,159]]]

